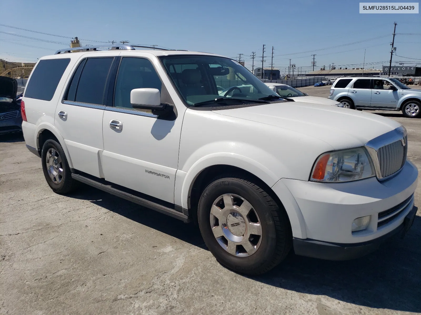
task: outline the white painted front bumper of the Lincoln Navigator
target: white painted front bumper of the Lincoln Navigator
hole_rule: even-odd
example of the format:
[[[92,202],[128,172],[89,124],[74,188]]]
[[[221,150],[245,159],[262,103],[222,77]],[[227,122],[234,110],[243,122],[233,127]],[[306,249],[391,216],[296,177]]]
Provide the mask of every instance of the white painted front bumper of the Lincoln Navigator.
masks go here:
[[[305,240],[348,248],[369,244],[366,242],[386,237],[399,228],[413,209],[417,182],[418,170],[407,161],[396,176],[386,181],[371,177],[346,183],[316,183],[283,178],[272,189],[288,213],[295,244]],[[402,206],[394,210],[397,205]],[[367,215],[368,228],[352,232],[352,222]]]

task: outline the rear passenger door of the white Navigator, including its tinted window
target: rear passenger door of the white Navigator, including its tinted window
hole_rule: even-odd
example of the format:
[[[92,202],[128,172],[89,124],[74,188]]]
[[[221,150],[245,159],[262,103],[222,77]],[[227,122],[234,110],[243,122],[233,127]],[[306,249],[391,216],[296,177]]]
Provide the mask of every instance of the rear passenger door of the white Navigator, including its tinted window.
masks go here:
[[[102,117],[107,100],[107,82],[115,53],[87,54],[70,78],[64,99],[56,108],[55,124],[69,150],[73,167],[104,177],[100,154],[104,150]]]

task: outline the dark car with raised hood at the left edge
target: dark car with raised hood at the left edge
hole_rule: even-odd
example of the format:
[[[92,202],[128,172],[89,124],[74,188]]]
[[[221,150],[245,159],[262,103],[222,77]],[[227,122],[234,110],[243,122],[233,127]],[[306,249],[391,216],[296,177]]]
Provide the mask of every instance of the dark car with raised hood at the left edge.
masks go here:
[[[22,130],[21,100],[16,79],[0,76],[0,134]]]

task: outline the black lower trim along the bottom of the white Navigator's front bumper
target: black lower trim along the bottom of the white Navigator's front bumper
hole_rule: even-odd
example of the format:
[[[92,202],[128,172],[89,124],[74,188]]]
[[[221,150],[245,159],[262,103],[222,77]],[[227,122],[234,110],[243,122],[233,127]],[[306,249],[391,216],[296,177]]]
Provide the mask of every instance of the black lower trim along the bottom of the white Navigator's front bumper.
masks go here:
[[[296,255],[320,258],[326,260],[349,260],[362,257],[374,252],[382,244],[394,241],[405,235],[412,226],[418,207],[413,206],[406,215],[404,222],[383,236],[355,244],[328,243],[312,239],[293,238],[293,247]]]

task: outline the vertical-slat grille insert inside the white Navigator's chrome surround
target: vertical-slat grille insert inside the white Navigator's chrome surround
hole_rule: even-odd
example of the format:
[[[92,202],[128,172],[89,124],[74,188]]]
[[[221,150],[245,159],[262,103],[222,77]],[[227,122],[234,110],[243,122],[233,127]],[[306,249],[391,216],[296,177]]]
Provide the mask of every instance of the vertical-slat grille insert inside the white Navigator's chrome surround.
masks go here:
[[[380,165],[381,177],[391,176],[399,171],[406,161],[407,139],[395,141],[380,147],[377,151],[378,163]],[[404,145],[405,144],[405,145]]]

